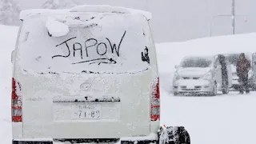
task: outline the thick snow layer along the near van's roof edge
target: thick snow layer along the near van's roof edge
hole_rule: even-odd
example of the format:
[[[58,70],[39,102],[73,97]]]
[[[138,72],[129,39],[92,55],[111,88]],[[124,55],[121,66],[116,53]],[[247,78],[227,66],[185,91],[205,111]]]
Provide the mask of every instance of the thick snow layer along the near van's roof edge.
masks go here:
[[[24,19],[30,14],[64,14],[69,12],[98,12],[98,13],[117,13],[117,14],[142,14],[146,17],[147,20],[152,18],[150,12],[144,10],[135,10],[125,7],[118,6],[107,6],[107,5],[82,5],[74,6],[71,9],[62,9],[62,10],[48,10],[48,9],[31,9],[31,10],[22,10],[20,14],[20,19]]]

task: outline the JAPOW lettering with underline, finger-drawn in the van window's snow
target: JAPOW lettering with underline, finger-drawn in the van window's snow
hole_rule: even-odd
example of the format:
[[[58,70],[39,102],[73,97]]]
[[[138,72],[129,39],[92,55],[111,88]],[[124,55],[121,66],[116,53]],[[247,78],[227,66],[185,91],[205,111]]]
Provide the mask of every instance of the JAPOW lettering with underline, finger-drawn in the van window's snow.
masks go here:
[[[118,46],[116,46],[116,44],[111,43],[109,38],[106,38],[107,42],[98,42],[97,39],[95,38],[89,38],[87,39],[83,44],[80,42],[74,42],[73,45],[69,45],[70,40],[75,39],[74,38],[69,38],[66,41],[58,44],[56,47],[58,46],[62,46],[65,45],[67,50],[68,50],[68,54],[66,55],[54,55],[52,58],[57,58],[57,57],[62,57],[62,58],[70,58],[70,57],[76,57],[77,54],[79,54],[79,57],[81,57],[81,59],[83,59],[84,57],[90,57],[90,53],[89,50],[90,49],[94,49],[96,48],[96,52],[98,54],[98,56],[104,56],[107,52],[108,49],[111,50],[112,54],[116,54],[118,57],[120,56],[119,50],[122,44],[122,40],[126,35],[126,31],[124,32],[124,34],[122,34],[122,38],[120,40],[120,42],[118,43]],[[71,51],[73,50],[73,54],[71,54]],[[78,64],[78,63],[83,63],[83,62],[90,62],[90,64],[93,63],[109,63],[109,64],[115,64],[116,61],[114,61],[114,59],[112,58],[95,58],[95,59],[91,59],[91,60],[86,60],[86,61],[81,61],[81,62],[74,62],[72,64]]]

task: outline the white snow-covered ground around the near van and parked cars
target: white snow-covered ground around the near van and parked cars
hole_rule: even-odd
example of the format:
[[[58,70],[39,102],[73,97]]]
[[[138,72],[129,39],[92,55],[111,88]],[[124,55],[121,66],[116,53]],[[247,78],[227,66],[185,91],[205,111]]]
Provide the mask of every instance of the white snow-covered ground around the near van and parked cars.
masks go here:
[[[17,27],[0,25],[0,143],[11,143],[10,123],[10,54],[14,49]],[[216,97],[174,97],[170,82],[174,66],[187,54],[255,52],[256,34],[202,38],[188,42],[157,45],[161,76],[161,124],[185,126],[192,144],[254,143],[256,130],[256,93],[232,92]],[[255,51],[254,51],[255,50]]]

